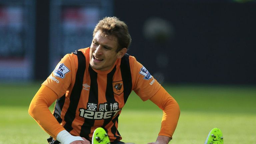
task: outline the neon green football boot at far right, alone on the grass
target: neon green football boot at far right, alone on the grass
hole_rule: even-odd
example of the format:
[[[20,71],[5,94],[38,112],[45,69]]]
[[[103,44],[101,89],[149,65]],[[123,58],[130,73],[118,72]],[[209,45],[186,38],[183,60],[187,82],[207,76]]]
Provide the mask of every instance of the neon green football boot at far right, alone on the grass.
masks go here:
[[[218,128],[212,129],[204,144],[224,144],[221,130]]]

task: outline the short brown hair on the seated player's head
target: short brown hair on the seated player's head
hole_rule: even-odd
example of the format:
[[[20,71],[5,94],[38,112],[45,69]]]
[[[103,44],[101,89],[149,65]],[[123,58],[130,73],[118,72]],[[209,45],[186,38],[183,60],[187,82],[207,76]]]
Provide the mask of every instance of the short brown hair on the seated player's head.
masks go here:
[[[131,36],[128,32],[128,26],[120,21],[117,17],[105,17],[99,21],[93,31],[93,37],[95,34],[101,31],[106,36],[113,35],[117,38],[118,48],[117,52],[123,48],[129,47],[131,43]]]

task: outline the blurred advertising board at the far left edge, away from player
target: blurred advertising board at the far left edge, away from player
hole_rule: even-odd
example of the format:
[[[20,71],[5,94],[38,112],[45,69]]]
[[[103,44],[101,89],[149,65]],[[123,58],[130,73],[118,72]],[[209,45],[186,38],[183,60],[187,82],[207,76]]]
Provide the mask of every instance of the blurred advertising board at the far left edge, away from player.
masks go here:
[[[35,4],[0,1],[0,81],[33,78]]]

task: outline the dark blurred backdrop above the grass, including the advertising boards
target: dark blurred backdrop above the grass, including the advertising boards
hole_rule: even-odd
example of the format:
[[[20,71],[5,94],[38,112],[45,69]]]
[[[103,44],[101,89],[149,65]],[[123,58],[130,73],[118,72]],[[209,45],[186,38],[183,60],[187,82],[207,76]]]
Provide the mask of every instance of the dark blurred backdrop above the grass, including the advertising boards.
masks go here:
[[[256,84],[255,0],[0,0],[1,83],[45,80],[106,16],[160,83]]]

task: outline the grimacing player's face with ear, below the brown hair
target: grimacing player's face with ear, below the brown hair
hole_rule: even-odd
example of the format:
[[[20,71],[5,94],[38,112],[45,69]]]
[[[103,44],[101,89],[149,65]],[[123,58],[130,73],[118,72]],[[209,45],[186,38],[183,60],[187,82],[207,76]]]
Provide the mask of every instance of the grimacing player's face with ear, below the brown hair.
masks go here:
[[[93,37],[90,48],[90,66],[96,70],[109,70],[115,64],[117,58],[123,57],[127,49],[123,48],[116,52],[118,48],[115,36],[104,36],[98,31]]]

